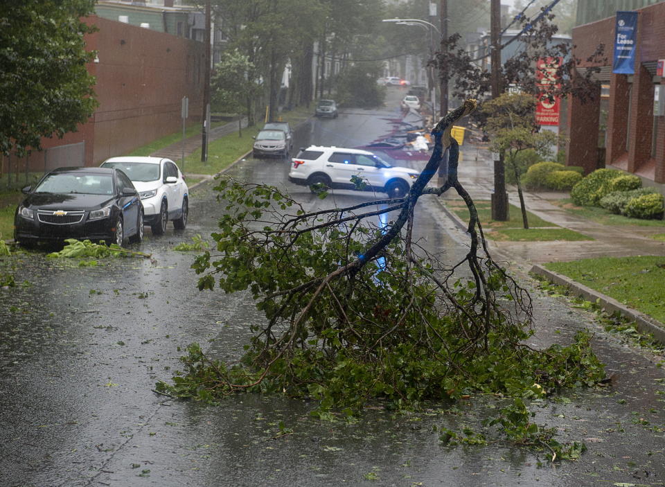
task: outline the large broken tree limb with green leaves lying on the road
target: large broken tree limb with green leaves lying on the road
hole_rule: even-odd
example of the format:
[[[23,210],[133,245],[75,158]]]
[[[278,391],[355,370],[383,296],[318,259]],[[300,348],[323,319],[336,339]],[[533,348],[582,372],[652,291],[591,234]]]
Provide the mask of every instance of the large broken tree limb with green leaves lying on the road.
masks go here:
[[[457,179],[459,146],[450,131],[474,107],[467,100],[434,127],[432,157],[405,197],[308,212],[279,188],[220,181],[227,213],[213,233],[215,250],[193,265],[199,289],[247,290],[265,319],[251,325],[240,362],[212,360],[191,344],[181,359],[186,369],[157,391],[208,401],[285,393],[319,400],[321,418],[360,414],[369,401],[412,409],[472,391],[506,394],[515,405],[497,418],[505,434],[565,457],[569,447],[530,422],[522,398],[594,384],[604,373],[587,335],[542,352],[525,344],[531,298],[490,256]],[[447,181],[427,187],[447,148]],[[328,193],[321,184],[312,189]],[[454,265],[414,237],[420,198],[449,190],[470,213],[468,253]],[[379,215],[387,224],[374,222]]]

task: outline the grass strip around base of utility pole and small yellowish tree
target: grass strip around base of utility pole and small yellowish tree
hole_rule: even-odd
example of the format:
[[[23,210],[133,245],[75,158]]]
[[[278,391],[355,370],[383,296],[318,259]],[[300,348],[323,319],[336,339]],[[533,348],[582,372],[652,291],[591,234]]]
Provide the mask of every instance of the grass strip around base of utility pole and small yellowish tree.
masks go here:
[[[445,200],[445,205],[455,215],[468,221],[469,211],[462,200]],[[522,224],[522,211],[511,204],[509,220],[499,222],[492,220],[491,203],[488,201],[475,202],[481,224],[486,230],[485,236],[492,240],[511,240],[514,242],[549,242],[551,240],[593,240],[590,237],[559,227],[557,224],[543,220],[530,211],[526,212],[529,220],[529,229]]]

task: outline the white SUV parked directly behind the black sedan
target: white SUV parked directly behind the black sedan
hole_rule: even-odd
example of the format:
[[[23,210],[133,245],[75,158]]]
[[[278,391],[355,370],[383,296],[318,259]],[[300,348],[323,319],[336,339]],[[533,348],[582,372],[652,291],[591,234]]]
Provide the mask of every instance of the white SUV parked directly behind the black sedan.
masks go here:
[[[166,231],[168,220],[177,230],[187,226],[189,191],[175,162],[163,157],[112,157],[102,167],[120,169],[132,180],[141,196],[145,223],[154,235]]]

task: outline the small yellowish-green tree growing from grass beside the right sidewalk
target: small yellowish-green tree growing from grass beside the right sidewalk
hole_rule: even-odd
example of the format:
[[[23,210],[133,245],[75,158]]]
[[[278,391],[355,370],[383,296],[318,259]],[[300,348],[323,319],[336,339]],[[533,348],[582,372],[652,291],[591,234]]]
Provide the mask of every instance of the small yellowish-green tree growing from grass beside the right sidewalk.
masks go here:
[[[518,154],[526,149],[534,149],[544,158],[551,157],[551,147],[556,146],[560,139],[549,130],[539,131],[540,127],[535,123],[536,103],[537,100],[529,94],[504,93],[484,103],[482,107],[486,116],[486,130],[492,136],[492,149],[502,154],[502,159],[513,170],[524,229],[529,228],[529,220],[526,217]]]

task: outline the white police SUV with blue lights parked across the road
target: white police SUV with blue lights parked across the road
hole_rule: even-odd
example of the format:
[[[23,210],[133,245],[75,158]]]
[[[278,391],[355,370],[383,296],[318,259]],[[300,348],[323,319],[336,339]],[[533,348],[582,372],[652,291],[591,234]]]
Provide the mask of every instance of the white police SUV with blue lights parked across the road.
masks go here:
[[[351,177],[360,176],[366,191],[382,191],[402,197],[418,178],[415,169],[391,166],[380,157],[360,149],[312,145],[292,159],[289,181],[303,186],[322,183],[329,188],[356,189]]]

